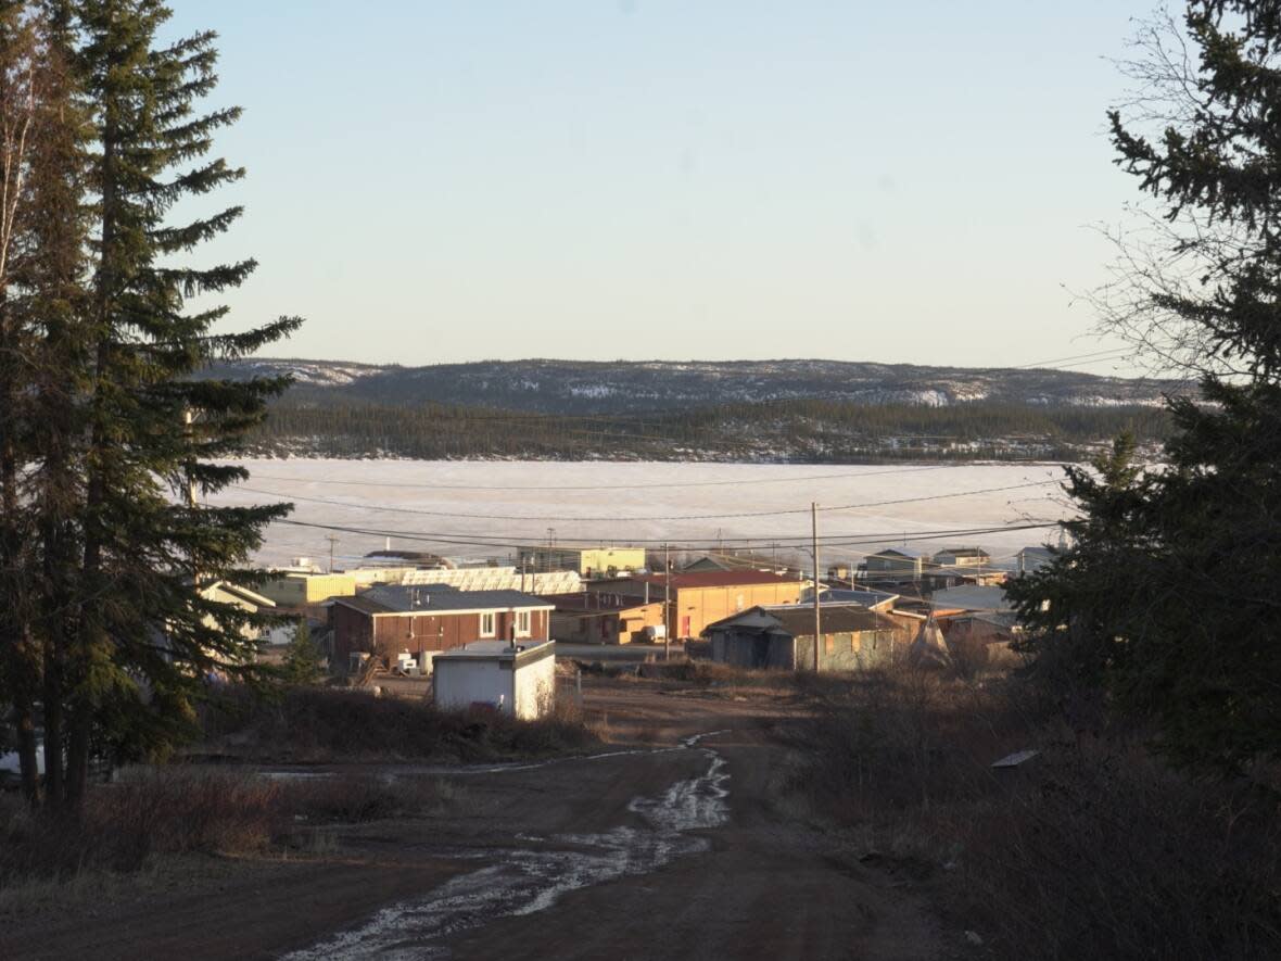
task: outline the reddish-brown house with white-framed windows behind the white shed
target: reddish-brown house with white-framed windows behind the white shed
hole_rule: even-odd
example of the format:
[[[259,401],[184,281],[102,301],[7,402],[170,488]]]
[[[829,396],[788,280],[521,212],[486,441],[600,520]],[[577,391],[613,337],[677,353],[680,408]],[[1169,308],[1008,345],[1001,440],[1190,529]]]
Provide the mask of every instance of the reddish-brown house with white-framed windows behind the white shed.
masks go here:
[[[546,597],[520,591],[375,587],[334,598],[329,610],[334,662],[347,665],[357,652],[395,661],[407,652],[425,666],[432,652],[474,641],[548,641],[552,607]]]

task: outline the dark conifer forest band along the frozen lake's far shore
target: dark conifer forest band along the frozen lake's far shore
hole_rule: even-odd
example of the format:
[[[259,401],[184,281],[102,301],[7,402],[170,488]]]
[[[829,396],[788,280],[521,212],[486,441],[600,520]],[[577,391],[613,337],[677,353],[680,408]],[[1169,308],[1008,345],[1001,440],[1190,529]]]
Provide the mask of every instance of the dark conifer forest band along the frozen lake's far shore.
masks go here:
[[[1067,460],[1130,432],[1164,438],[1149,406],[977,402],[931,407],[789,400],[684,411],[564,416],[446,404],[314,404],[286,397],[255,428],[255,455],[534,460]]]

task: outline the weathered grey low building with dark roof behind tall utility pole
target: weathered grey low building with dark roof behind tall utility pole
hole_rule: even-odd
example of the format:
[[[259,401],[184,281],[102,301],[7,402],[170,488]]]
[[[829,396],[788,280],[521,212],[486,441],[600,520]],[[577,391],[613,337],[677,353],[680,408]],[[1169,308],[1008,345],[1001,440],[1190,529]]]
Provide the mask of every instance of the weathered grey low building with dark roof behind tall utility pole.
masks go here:
[[[820,605],[824,671],[866,670],[889,662],[901,647],[898,625],[884,614],[848,604]],[[712,660],[748,669],[813,670],[812,605],[752,607],[707,627]]]

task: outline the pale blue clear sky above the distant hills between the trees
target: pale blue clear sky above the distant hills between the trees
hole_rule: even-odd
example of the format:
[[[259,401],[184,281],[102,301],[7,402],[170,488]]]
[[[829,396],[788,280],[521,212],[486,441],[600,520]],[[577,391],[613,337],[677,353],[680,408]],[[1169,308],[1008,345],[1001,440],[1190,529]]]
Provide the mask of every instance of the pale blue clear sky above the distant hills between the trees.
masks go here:
[[[172,0],[275,355],[429,364],[1111,346],[1065,291],[1134,199],[1107,58],[1152,0]],[[1109,373],[1111,363],[1081,369]]]

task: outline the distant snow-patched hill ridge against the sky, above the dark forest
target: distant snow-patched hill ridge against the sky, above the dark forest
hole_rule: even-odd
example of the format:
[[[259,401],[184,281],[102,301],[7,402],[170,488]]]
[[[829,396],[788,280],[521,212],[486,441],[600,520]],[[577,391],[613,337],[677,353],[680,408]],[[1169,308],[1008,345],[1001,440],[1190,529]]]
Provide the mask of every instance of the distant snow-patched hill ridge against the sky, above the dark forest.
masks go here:
[[[483,360],[400,366],[255,357],[213,375],[291,373],[291,400],[380,405],[457,404],[542,414],[635,414],[722,404],[826,400],[947,407],[1155,406],[1170,381],[1070,370],[958,368],[839,360]]]

